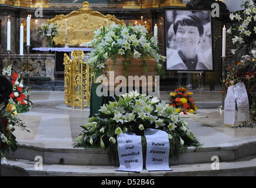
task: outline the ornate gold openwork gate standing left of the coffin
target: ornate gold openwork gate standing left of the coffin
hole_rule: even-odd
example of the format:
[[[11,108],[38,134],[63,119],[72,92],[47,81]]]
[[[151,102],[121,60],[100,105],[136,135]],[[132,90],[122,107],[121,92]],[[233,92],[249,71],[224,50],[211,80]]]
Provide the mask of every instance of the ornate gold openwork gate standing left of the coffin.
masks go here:
[[[89,106],[93,76],[88,63],[84,62],[83,51],[73,51],[71,56],[72,60],[64,53],[65,104],[83,109]]]

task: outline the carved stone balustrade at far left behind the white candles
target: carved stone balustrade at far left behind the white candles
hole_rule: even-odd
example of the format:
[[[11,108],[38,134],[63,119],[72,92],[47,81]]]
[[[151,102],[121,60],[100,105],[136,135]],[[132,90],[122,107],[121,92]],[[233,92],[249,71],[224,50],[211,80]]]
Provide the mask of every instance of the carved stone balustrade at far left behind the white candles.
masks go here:
[[[0,70],[7,65],[7,54],[0,55]],[[10,60],[13,65],[13,71],[26,75],[27,55],[21,56],[19,54],[11,54]],[[22,61],[21,61],[22,60]],[[54,80],[54,66],[55,55],[44,54],[31,54],[29,58],[29,74],[31,76],[48,76]],[[2,72],[2,71],[1,71]]]

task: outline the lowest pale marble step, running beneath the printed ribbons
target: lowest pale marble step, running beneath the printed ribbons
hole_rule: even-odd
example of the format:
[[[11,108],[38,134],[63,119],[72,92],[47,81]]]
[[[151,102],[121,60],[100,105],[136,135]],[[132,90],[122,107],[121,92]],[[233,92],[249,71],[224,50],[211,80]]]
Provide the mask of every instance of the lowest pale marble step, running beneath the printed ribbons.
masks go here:
[[[118,166],[83,166],[67,164],[43,164],[36,168],[35,161],[10,160],[2,165],[3,176],[256,176],[256,155],[241,157],[237,160],[212,163],[172,165],[172,171],[140,173],[118,172]],[[212,169],[213,168],[213,169]],[[102,177],[103,178],[103,177]]]

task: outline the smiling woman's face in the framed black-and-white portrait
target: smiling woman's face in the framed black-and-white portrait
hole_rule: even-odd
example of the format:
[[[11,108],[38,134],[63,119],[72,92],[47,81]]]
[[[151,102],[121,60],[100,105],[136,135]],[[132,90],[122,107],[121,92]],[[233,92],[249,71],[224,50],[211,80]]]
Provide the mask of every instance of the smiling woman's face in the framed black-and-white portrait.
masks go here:
[[[198,28],[196,26],[178,25],[176,39],[179,49],[185,51],[194,49],[200,40]]]

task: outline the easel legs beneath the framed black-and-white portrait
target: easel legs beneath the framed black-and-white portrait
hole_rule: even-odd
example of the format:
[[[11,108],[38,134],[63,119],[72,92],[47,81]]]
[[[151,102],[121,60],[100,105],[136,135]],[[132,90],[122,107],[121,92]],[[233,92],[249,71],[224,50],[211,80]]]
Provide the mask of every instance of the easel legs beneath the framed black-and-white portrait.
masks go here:
[[[202,71],[178,71],[178,86],[181,86],[182,73],[187,73],[187,89],[192,89],[192,73],[197,73],[198,88],[204,89],[202,85]]]

